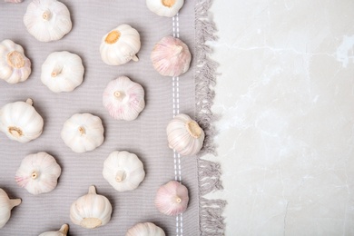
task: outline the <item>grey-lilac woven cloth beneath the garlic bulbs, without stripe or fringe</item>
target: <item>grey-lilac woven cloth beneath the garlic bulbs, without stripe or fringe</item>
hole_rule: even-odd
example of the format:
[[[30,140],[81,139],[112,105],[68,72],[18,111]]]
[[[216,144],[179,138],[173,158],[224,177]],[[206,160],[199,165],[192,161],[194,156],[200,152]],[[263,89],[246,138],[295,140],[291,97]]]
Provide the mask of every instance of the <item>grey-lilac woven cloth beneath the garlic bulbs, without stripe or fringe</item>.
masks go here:
[[[157,74],[150,62],[153,44],[162,36],[172,35],[172,19],[152,14],[141,1],[62,1],[73,21],[72,31],[63,39],[41,43],[27,33],[23,15],[30,1],[13,5],[0,2],[0,41],[8,38],[25,48],[32,61],[32,74],[22,84],[0,81],[0,106],[15,101],[34,100],[44,118],[44,133],[30,143],[10,141],[0,133],[0,187],[11,198],[23,203],[12,211],[0,235],[38,235],[69,223],[70,235],[124,235],[140,221],[152,221],[168,235],[176,234],[175,217],[166,217],[153,206],[156,190],[175,178],[173,152],[167,147],[165,127],[172,119],[172,78]],[[180,37],[194,54],[194,1],[186,1],[179,15]],[[121,66],[103,64],[99,45],[104,34],[121,24],[132,25],[141,34],[142,49],[138,63]],[[40,81],[41,66],[48,54],[69,51],[82,57],[84,83],[72,93],[52,93]],[[192,69],[179,83],[180,112],[194,114],[194,61]],[[106,84],[127,75],[143,85],[146,107],[133,122],[115,121],[102,105]],[[74,113],[93,113],[103,120],[105,141],[93,152],[74,153],[60,138],[63,123]],[[145,180],[133,192],[116,192],[102,176],[103,161],[110,152],[126,150],[143,161]],[[15,183],[15,172],[30,153],[48,152],[62,167],[62,175],[53,192],[31,195]],[[194,157],[182,158],[182,182],[190,190],[190,205],[183,213],[183,234],[199,234],[197,166]],[[113,204],[111,221],[98,229],[85,230],[71,223],[72,202],[94,184],[97,192]]]

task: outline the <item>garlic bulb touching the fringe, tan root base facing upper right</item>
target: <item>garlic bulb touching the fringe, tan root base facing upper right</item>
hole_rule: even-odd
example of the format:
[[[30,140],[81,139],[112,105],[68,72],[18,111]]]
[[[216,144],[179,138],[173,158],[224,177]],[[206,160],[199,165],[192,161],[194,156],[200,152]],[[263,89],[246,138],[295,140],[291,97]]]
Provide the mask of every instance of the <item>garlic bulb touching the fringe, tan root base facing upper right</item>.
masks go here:
[[[177,114],[167,125],[166,132],[170,148],[181,155],[193,155],[201,151],[205,134],[187,114]]]

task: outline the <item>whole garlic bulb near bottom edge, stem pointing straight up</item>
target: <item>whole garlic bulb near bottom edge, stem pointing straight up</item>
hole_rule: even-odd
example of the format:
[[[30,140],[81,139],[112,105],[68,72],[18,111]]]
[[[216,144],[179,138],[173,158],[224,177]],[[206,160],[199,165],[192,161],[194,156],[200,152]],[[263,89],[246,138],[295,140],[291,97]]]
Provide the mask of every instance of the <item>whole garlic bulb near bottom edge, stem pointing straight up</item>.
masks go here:
[[[74,224],[86,229],[105,225],[111,220],[112,205],[106,197],[96,193],[94,186],[89,192],[73,202],[70,208],[70,219]]]

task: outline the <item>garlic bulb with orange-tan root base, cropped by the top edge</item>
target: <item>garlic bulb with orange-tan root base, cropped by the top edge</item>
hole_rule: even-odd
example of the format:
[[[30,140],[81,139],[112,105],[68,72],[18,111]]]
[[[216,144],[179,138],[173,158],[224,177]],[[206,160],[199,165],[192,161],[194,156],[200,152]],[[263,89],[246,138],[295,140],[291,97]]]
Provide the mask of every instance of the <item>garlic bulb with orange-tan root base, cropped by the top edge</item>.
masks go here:
[[[172,17],[178,13],[184,0],[146,0],[150,11],[156,15]]]

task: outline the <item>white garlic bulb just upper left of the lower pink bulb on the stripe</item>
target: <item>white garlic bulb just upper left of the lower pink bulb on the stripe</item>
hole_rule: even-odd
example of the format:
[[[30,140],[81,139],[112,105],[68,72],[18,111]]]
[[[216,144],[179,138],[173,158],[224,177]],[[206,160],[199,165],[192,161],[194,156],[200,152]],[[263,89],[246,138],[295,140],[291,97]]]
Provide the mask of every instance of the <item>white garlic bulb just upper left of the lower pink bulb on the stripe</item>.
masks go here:
[[[103,163],[103,177],[119,192],[136,189],[143,178],[143,162],[126,151],[112,152]]]

